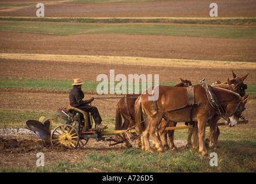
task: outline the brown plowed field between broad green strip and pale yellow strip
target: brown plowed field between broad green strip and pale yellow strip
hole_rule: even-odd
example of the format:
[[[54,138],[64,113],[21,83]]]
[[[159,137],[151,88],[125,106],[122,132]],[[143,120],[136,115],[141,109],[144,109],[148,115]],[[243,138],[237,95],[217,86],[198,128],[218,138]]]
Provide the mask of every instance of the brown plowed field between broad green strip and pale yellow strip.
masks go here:
[[[224,39],[148,34],[75,34],[68,36],[5,32],[2,53],[48,53],[160,57],[255,62],[256,38]]]

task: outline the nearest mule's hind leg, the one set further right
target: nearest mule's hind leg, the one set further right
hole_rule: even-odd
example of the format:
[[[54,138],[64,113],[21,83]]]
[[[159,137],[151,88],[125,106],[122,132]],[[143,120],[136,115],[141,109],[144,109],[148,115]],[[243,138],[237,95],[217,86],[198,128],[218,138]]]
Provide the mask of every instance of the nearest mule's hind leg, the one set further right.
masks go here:
[[[155,131],[158,132],[158,125],[159,122],[162,120],[162,115],[157,115],[155,117],[151,117],[150,124],[149,124],[149,134],[151,140],[155,143],[155,147],[157,148],[158,152],[163,151],[162,142],[158,139],[158,137],[155,135]]]

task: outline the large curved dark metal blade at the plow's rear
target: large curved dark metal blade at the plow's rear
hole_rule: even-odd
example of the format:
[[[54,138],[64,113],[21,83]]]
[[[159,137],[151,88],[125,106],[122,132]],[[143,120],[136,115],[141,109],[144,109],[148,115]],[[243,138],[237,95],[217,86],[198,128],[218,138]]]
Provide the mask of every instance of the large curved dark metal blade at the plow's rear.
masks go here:
[[[42,124],[40,121],[28,120],[26,122],[28,129],[40,136],[40,139],[45,140],[47,135],[50,135],[50,121],[47,120]]]

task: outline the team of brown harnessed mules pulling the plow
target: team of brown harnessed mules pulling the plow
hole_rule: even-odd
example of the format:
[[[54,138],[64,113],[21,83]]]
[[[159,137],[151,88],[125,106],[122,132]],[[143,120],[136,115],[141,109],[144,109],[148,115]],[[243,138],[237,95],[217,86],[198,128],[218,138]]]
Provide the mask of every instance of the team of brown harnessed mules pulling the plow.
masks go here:
[[[233,127],[242,117],[245,104],[250,97],[250,93],[245,93],[247,85],[243,83],[248,74],[241,78],[233,71],[232,74],[233,79],[227,79],[225,83],[217,81],[215,85],[192,86],[190,81],[181,79],[181,83],[175,86],[154,86],[148,89],[150,93],[146,90],[142,94],[127,94],[117,104],[115,129],[126,130],[137,127],[141,138],[138,145],[142,147],[142,150],[153,152],[150,145],[151,139],[154,149],[162,152],[167,149],[177,149],[174,143],[175,131],[165,131],[165,128],[176,127],[178,122],[186,122],[186,124],[193,125],[193,128],[188,129],[187,144],[192,144],[193,135],[192,148],[201,152],[202,155],[207,155],[205,142],[209,141],[210,148],[217,148],[220,135],[218,120],[223,117],[227,124]],[[221,110],[214,108],[211,104],[212,99],[209,99],[206,93],[208,87]],[[156,88],[158,88],[158,99],[151,101],[149,100],[152,96],[151,91],[155,91]],[[210,127],[210,136],[206,141],[207,124]],[[131,147],[132,145],[125,143],[125,146]]]

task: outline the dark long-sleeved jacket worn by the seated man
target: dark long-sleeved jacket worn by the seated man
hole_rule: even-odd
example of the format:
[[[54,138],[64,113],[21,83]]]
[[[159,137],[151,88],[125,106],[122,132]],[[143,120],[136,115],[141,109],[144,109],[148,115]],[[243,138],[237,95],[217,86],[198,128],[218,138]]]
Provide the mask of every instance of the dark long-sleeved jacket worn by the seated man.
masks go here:
[[[70,105],[74,108],[78,108],[79,106],[83,106],[91,103],[90,99],[83,100],[83,98],[84,98],[83,91],[76,85],[73,86],[73,89],[69,92]]]

